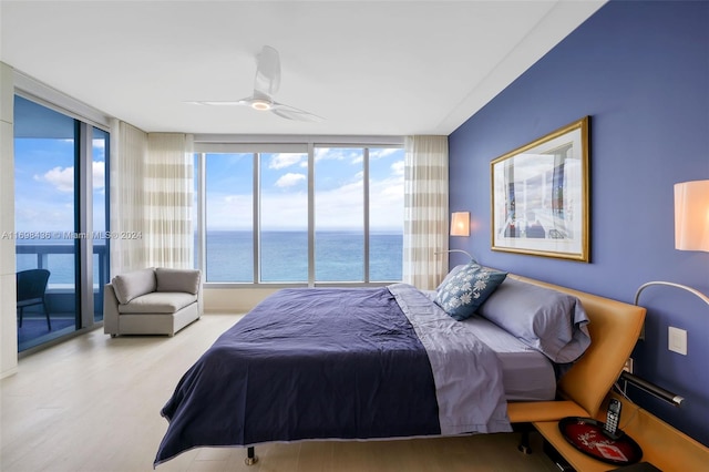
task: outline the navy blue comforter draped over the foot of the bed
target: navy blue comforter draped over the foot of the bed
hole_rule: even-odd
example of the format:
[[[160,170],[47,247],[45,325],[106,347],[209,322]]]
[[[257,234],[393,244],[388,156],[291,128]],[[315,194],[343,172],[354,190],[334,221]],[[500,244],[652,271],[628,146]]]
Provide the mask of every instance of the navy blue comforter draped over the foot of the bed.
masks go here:
[[[224,332],[162,414],[195,447],[440,434],[427,351],[387,288],[280,290]]]

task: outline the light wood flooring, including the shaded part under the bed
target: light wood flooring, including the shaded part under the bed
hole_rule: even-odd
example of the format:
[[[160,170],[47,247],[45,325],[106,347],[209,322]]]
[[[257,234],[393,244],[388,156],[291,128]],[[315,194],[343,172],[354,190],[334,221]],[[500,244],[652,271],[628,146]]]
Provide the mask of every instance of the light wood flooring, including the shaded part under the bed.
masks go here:
[[[0,381],[0,470],[151,471],[167,422],[160,410],[182,374],[239,319],[205,315],[166,337],[110,338],[102,330],[20,360]],[[320,441],[244,449],[202,448],[157,471],[556,471],[533,434],[480,434],[400,441]]]

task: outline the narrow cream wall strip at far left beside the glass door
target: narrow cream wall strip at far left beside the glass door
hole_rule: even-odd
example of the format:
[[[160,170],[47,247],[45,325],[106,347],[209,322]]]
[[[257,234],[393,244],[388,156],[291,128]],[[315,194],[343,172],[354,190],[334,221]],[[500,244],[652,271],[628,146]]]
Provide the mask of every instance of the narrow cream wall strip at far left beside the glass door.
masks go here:
[[[18,326],[14,289],[14,85],[12,68],[0,62],[0,378],[17,372]]]

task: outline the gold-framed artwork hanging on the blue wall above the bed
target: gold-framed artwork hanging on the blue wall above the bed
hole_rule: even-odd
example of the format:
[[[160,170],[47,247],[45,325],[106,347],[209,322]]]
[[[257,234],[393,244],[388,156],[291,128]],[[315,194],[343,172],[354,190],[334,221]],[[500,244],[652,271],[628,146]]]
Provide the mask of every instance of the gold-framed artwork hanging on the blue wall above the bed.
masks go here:
[[[493,250],[589,261],[588,121],[490,163]]]

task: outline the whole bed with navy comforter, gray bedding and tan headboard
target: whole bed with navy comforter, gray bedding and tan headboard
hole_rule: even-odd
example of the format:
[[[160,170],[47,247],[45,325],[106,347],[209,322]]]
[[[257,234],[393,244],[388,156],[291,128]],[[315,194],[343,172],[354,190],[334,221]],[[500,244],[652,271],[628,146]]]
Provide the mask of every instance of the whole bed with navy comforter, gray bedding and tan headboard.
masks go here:
[[[179,380],[161,411],[168,428],[154,465],[199,447],[247,448],[253,461],[254,447],[268,442],[508,432],[516,422],[595,414],[635,345],[644,310],[483,270],[501,279],[474,281],[483,294],[467,297],[475,309],[463,319],[441,300],[449,278],[461,277],[456,270],[436,291],[395,284],[269,296]],[[552,304],[559,311],[554,297],[566,300],[567,332],[547,341],[525,331],[537,329],[525,327],[528,306],[538,305],[530,287],[544,290],[532,294],[544,299],[544,310]],[[525,308],[511,312],[521,301]],[[633,321],[609,330],[606,322],[625,319],[629,307]],[[610,338],[623,338],[612,356],[597,352],[604,335],[594,332],[596,321]],[[588,358],[590,369],[603,365],[590,380]],[[586,384],[578,389],[575,381]]]

